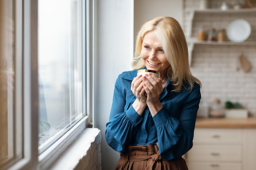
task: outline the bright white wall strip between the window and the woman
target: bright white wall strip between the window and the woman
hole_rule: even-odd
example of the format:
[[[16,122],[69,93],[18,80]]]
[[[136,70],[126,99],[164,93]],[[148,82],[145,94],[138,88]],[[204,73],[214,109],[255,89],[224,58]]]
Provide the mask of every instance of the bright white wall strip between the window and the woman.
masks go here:
[[[131,70],[133,4],[130,0],[97,0],[97,49],[94,125],[101,130],[102,170],[114,170],[119,159],[105,139],[117,76]]]

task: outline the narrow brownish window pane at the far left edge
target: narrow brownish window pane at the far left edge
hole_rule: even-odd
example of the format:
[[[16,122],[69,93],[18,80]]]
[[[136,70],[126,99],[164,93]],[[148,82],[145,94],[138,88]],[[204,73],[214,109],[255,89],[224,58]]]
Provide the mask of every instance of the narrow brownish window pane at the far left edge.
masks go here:
[[[21,18],[16,17],[22,8],[19,4],[0,1],[0,169],[22,158],[22,108],[17,107],[22,101],[22,62],[17,62],[21,60],[17,48],[22,46],[17,41],[22,30],[17,24]]]

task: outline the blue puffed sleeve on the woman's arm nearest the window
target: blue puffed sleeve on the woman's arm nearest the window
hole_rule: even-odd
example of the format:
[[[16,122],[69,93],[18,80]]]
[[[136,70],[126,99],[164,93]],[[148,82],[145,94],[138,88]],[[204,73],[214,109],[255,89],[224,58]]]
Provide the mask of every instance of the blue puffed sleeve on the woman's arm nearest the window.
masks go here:
[[[136,126],[143,119],[132,106],[124,110],[127,90],[127,84],[124,84],[119,75],[115,83],[110,119],[105,131],[108,145],[117,152],[125,151],[136,132]]]

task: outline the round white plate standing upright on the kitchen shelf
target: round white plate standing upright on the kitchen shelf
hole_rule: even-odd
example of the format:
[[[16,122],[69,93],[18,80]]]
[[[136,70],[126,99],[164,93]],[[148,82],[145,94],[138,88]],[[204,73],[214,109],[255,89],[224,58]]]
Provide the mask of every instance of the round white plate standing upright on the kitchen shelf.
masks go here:
[[[232,21],[227,27],[227,38],[232,42],[243,42],[251,35],[252,27],[246,20]]]

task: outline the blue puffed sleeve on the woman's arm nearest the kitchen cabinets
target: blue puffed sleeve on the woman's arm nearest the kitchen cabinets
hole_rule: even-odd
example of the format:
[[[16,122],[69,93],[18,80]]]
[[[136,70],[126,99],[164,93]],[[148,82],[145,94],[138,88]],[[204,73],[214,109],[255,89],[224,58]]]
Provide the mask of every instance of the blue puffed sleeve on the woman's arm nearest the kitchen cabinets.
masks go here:
[[[200,86],[196,84],[191,92],[184,95],[177,119],[162,108],[154,117],[157,128],[159,153],[170,160],[184,155],[193,146],[195,119],[201,99]]]

